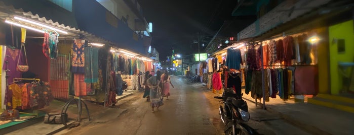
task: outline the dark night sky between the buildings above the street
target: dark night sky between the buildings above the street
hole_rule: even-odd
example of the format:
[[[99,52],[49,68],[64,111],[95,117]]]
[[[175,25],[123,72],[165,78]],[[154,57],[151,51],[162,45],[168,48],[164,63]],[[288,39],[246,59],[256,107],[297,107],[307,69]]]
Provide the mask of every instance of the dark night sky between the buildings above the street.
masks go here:
[[[161,60],[175,53],[198,52],[197,33],[212,37],[225,20],[232,20],[231,12],[237,1],[233,0],[138,0],[147,22],[153,23],[151,46]],[[204,38],[208,44],[208,38]],[[203,42],[201,42],[202,44]],[[201,46],[203,47],[203,46]],[[201,48],[201,52],[204,48]]]

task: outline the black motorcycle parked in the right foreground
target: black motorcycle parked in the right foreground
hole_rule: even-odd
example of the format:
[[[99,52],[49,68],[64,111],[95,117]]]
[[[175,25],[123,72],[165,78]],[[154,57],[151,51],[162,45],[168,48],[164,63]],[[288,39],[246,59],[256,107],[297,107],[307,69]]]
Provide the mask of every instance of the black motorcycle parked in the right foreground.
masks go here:
[[[243,93],[242,93],[243,95]],[[232,88],[224,90],[222,97],[216,96],[216,99],[222,99],[220,102],[219,114],[225,124],[225,134],[258,134],[246,122],[250,119],[247,102],[238,96]]]

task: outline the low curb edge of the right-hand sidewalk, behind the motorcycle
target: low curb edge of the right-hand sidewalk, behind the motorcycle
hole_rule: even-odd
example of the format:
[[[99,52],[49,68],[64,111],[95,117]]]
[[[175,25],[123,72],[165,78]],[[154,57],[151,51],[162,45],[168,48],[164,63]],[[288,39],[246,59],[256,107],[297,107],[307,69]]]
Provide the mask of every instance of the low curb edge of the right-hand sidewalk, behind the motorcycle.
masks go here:
[[[248,100],[252,103],[255,103],[255,101],[251,100],[251,99],[248,99],[248,98],[245,98],[243,97],[243,99],[245,100]],[[257,105],[263,105],[263,103],[258,103],[257,102]],[[268,112],[271,112],[271,113],[278,113],[282,118],[284,118],[284,120],[286,120],[288,123],[296,126],[296,127],[299,127],[303,130],[305,130],[306,132],[308,133],[311,133],[311,134],[331,134],[329,132],[326,132],[316,126],[313,126],[313,125],[310,125],[310,124],[307,124],[305,122],[302,122],[301,120],[297,120],[296,118],[290,116],[290,115],[287,115],[285,113],[282,113],[282,112],[279,112],[277,110],[274,110],[272,109],[271,107],[269,106],[266,106],[265,107],[265,110],[267,110]]]

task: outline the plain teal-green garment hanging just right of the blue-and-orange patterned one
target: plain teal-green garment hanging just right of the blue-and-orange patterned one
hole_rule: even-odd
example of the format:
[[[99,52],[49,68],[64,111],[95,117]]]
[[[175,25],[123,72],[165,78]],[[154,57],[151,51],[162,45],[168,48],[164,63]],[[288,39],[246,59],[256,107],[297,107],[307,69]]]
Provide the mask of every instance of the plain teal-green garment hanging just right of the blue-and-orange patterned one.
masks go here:
[[[98,81],[98,50],[96,47],[85,47],[85,83]]]

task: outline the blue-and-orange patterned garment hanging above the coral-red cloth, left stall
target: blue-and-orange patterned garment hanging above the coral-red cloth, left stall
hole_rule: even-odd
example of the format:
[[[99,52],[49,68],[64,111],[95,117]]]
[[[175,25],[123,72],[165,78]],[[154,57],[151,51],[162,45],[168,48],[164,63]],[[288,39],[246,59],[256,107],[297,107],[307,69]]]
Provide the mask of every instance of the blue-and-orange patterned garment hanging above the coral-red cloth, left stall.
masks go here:
[[[76,39],[72,46],[72,73],[85,73],[85,47],[81,39]]]

